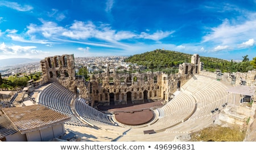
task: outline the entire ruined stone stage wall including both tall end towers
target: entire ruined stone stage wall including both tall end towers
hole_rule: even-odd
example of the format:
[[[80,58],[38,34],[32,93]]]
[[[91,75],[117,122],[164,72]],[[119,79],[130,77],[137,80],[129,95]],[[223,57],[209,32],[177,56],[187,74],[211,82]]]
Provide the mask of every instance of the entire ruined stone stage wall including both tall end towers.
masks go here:
[[[191,63],[179,65],[179,72],[167,75],[162,72],[99,73],[90,81],[76,79],[73,55],[46,57],[41,61],[45,81],[58,81],[92,106],[141,104],[147,101],[169,101],[194,74],[200,72],[200,57],[192,56]]]

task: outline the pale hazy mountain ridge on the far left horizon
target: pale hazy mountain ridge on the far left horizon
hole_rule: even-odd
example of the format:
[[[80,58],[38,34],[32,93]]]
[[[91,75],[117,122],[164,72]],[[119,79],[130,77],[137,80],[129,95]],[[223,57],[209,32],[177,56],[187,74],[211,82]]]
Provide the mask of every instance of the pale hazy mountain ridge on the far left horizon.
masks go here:
[[[0,59],[0,67],[6,67],[17,64],[25,64],[31,62],[40,62],[41,59],[28,59],[28,58],[10,58],[10,59]]]

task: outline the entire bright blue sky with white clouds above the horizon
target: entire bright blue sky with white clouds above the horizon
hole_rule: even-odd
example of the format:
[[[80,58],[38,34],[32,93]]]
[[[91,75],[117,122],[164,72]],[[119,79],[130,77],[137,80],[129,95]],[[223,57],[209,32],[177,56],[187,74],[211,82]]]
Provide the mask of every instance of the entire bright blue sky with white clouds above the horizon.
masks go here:
[[[0,0],[0,59],[167,49],[256,56],[256,1]]]

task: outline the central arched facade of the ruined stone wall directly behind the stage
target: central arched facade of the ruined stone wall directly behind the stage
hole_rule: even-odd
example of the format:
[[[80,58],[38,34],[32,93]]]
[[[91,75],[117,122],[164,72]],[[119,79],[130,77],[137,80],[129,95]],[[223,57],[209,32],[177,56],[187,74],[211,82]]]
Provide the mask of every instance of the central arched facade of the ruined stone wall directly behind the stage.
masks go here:
[[[162,73],[100,74],[90,83],[98,104],[136,104],[161,98]]]

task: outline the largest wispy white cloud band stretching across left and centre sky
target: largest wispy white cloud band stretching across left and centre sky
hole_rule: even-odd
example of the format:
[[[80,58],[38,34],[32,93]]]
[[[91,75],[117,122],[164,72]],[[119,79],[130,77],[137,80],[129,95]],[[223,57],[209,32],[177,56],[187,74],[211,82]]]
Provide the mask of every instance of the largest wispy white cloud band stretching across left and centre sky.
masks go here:
[[[159,40],[170,36],[174,31],[158,30],[154,33],[113,30],[109,24],[93,22],[81,22],[75,20],[71,26],[59,26],[55,22],[39,19],[42,24],[29,24],[27,31],[18,34],[18,31],[9,31],[9,36],[17,42],[54,44],[75,42],[90,46],[105,46],[112,48],[124,48],[129,46],[123,40],[137,41],[136,39],[151,39],[158,43]],[[133,40],[131,40],[133,39]],[[93,41],[92,41],[93,40]]]

